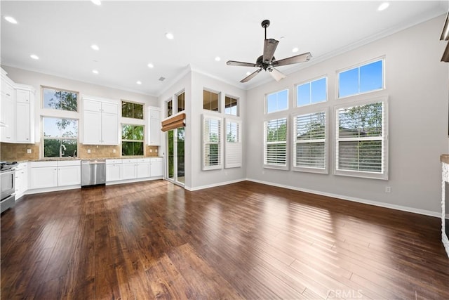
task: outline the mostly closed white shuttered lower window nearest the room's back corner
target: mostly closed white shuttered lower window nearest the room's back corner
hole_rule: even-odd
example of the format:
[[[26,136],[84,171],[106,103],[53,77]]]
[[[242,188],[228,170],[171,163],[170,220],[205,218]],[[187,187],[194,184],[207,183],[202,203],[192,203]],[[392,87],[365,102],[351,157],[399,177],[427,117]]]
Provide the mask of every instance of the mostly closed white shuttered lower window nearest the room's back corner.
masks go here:
[[[241,122],[226,118],[225,124],[225,168],[241,167]]]

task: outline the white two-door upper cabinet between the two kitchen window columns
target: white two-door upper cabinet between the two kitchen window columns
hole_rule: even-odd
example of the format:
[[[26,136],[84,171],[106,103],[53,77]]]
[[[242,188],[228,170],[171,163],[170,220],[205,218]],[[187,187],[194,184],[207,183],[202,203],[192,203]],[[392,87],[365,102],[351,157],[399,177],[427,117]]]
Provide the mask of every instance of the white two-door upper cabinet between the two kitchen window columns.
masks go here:
[[[119,145],[119,104],[83,98],[83,144]]]

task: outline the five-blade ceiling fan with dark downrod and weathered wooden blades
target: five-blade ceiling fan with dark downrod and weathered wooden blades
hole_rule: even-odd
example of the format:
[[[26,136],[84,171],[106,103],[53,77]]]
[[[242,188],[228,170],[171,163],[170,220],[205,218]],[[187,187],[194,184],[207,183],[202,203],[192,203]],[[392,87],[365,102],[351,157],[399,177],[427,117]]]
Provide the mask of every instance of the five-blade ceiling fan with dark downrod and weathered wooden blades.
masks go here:
[[[311,58],[310,52],[306,52],[297,56],[291,56],[290,58],[276,60],[276,58],[274,58],[274,51],[276,51],[279,41],[276,41],[276,39],[267,39],[267,27],[269,27],[269,20],[263,20],[262,27],[265,29],[264,54],[259,56],[255,63],[242,63],[235,60],[228,60],[226,63],[227,65],[259,68],[247,77],[241,79],[240,82],[242,83],[250,81],[250,79],[255,77],[255,75],[259,74],[262,70],[269,71],[269,74],[271,74],[276,81],[279,81],[286,78],[286,75],[284,75],[281,71],[276,70],[274,67],[280,67],[281,65],[292,65],[294,63],[304,63]]]

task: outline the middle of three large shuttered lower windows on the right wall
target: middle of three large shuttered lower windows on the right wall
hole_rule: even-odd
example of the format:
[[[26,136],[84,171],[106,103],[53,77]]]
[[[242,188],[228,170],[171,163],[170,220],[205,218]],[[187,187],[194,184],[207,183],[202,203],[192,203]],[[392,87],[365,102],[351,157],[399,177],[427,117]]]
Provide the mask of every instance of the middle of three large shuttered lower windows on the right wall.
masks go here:
[[[294,131],[295,170],[327,173],[326,112],[296,116]]]

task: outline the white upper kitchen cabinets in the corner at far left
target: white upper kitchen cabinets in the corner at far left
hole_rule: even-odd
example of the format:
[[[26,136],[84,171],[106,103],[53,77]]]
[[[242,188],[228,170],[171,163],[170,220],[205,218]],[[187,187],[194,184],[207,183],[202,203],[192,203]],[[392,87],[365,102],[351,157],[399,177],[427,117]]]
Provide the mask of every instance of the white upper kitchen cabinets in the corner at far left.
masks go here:
[[[1,70],[0,141],[34,143],[34,88],[15,84]]]

